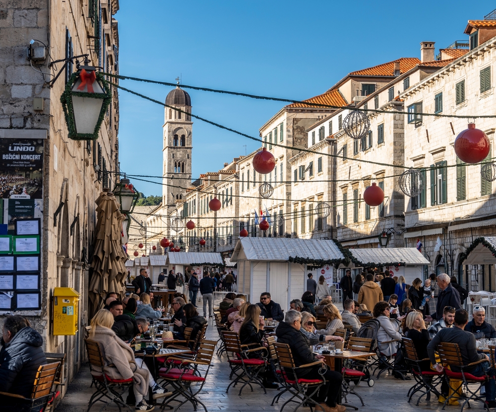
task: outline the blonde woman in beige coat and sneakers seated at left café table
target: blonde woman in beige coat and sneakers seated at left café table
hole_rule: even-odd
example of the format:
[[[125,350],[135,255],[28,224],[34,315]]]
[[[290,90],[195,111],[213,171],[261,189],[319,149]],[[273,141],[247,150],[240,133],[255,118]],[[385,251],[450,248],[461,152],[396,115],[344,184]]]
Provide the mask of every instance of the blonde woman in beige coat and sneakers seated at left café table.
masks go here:
[[[114,316],[107,309],[100,309],[91,320],[89,339],[100,343],[106,366],[103,372],[111,379],[133,380],[136,411],[153,411],[145,397],[148,388],[151,388],[153,399],[170,395],[158,385],[150,375],[150,371],[142,359],[135,359],[132,349],[121,340],[111,329],[114,325]],[[110,366],[112,365],[112,366]]]

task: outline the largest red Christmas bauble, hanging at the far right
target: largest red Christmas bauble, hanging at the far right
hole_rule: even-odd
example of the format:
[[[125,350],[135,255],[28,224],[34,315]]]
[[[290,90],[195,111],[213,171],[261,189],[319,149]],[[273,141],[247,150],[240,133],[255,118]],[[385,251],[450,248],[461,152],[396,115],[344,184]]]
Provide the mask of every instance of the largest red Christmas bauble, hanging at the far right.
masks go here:
[[[468,129],[455,138],[455,153],[465,163],[482,162],[490,149],[489,138],[482,130],[475,128],[475,123],[469,123]]]

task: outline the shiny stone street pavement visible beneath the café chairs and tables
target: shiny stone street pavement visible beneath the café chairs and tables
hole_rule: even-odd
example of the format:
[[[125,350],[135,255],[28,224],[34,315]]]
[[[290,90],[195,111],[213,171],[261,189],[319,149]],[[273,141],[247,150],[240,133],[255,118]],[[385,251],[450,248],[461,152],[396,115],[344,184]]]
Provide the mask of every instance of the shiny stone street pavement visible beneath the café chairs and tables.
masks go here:
[[[217,340],[217,330],[215,329],[213,319],[209,319],[208,325],[207,339]],[[209,412],[279,411],[283,404],[282,400],[279,404],[270,406],[272,398],[278,393],[277,390],[267,389],[267,394],[264,395],[263,390],[260,388],[253,387],[253,392],[250,392],[249,388],[245,387],[241,396],[238,396],[239,390],[236,390],[236,388],[230,389],[229,394],[226,394],[226,388],[230,383],[229,373],[230,369],[227,365],[226,355],[219,358],[214,354],[210,373],[207,377],[207,382],[203,388],[203,391],[198,396],[199,399],[205,404]],[[440,411],[442,405],[437,402],[434,395],[432,397],[432,402],[426,402],[424,400],[418,407],[415,406],[413,400],[410,404],[407,402],[408,398],[406,397],[406,393],[413,383],[413,380],[397,380],[389,375],[386,375],[385,377],[381,375],[380,379],[375,380],[375,385],[372,388],[368,387],[367,383],[361,383],[357,388],[357,392],[359,392],[364,399],[365,407],[360,406],[360,411]],[[74,379],[74,381],[69,385],[68,391],[61,404],[57,407],[56,412],[86,411],[88,407],[88,400],[93,393],[93,388],[90,388],[90,384],[91,376],[89,373],[89,368],[85,365],[80,369],[76,379]],[[288,397],[283,396],[282,399],[288,399]],[[416,402],[416,398],[414,399]],[[360,405],[359,399],[355,396],[349,397],[348,402],[356,406]],[[472,411],[483,410],[483,406],[480,402],[471,403],[471,406]],[[93,406],[91,411],[99,411],[100,408],[101,405],[97,404]],[[107,407],[106,409],[106,411],[109,412],[118,410],[119,409],[115,404]],[[155,411],[157,410],[159,410],[158,407],[155,408]],[[348,410],[351,409],[348,408]],[[132,408],[132,411],[134,411],[134,408]],[[165,411],[169,411],[169,409],[166,408]],[[191,404],[188,403],[184,405],[180,411],[189,412],[193,411],[193,408]],[[198,411],[202,411],[201,406],[198,406]],[[285,411],[292,411],[290,404],[286,406]],[[299,411],[309,412],[310,408],[300,408]],[[458,412],[460,411],[460,407],[447,406],[445,411]]]

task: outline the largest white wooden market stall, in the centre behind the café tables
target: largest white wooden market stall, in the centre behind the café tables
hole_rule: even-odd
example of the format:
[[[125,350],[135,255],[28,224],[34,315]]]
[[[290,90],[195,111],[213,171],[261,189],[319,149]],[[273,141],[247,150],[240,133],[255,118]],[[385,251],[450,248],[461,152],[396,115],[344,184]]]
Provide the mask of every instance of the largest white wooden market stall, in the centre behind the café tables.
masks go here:
[[[231,262],[238,264],[238,293],[258,302],[260,294],[268,291],[287,310],[307,285],[307,265],[290,260],[303,259],[310,265],[343,258],[332,240],[244,237],[238,240]]]

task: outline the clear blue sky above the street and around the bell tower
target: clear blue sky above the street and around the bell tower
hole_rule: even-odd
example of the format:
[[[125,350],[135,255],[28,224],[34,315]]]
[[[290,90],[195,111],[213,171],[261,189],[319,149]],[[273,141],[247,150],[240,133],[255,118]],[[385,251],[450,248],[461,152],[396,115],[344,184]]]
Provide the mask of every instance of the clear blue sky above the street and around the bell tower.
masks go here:
[[[444,3],[444,2],[443,2]],[[489,1],[120,1],[120,74],[251,94],[306,99],[348,72],[400,57],[420,58],[420,42],[444,48],[467,20],[483,19]],[[121,85],[165,101],[170,87],[130,80]],[[284,103],[188,90],[192,112],[250,136]],[[121,170],[162,174],[163,107],[120,91]],[[192,176],[258,147],[193,123]],[[247,147],[245,148],[245,145]],[[152,180],[152,179],[150,179]],[[132,179],[145,194],[162,186]],[[160,182],[160,180],[155,179]]]

